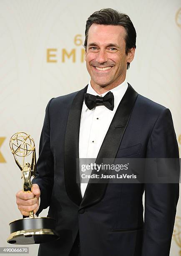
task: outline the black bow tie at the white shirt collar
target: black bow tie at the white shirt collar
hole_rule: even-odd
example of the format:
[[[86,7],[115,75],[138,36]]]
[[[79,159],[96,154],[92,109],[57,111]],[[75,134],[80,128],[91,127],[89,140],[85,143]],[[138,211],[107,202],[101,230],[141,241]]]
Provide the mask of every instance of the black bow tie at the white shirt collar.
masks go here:
[[[112,92],[108,92],[104,97],[85,93],[84,100],[85,100],[85,105],[90,110],[100,105],[104,105],[106,108],[110,110],[114,109],[114,95]]]

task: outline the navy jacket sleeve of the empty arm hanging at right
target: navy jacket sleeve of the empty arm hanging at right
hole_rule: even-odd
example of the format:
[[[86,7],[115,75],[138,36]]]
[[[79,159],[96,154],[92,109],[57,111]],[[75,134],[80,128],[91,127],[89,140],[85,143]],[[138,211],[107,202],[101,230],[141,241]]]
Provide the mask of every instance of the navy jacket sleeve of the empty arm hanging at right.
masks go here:
[[[179,163],[178,144],[169,109],[162,110],[156,120],[148,141],[146,157],[174,158]],[[141,256],[169,256],[178,196],[178,183],[145,184]]]

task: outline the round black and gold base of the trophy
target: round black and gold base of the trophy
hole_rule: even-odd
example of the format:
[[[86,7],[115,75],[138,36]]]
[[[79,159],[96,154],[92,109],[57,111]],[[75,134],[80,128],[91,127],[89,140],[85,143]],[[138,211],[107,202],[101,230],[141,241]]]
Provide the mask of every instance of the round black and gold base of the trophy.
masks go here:
[[[10,223],[11,244],[45,243],[59,238],[55,231],[55,220],[45,217],[24,218]]]

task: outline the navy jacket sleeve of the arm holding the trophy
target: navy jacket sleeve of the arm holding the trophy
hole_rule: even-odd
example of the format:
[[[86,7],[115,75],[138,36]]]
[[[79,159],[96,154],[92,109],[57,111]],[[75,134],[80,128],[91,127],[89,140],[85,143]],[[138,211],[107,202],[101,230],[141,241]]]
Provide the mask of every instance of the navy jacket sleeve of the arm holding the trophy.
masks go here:
[[[52,100],[52,99],[51,99]],[[50,205],[50,198],[53,189],[53,169],[54,159],[50,148],[50,122],[49,122],[49,106],[46,107],[45,119],[40,136],[39,158],[37,161],[36,177],[33,179],[33,184],[38,184],[40,187],[40,207],[37,215]]]

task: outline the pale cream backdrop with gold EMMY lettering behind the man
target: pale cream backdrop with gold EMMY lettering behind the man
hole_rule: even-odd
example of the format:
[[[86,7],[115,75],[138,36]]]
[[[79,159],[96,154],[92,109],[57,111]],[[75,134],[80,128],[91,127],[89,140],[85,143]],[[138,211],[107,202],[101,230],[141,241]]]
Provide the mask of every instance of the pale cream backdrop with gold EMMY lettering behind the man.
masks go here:
[[[88,83],[83,42],[85,22],[102,8],[130,16],[137,32],[136,56],[127,80],[140,94],[171,110],[181,147],[181,8],[179,0],[0,0],[0,247],[8,223],[21,217],[15,194],[20,171],[9,139],[26,131],[38,154],[45,107],[52,97]],[[44,210],[40,216],[46,216]],[[30,256],[38,245],[29,246]],[[181,255],[181,200],[171,243],[171,256]],[[180,253],[180,254],[179,254]]]

